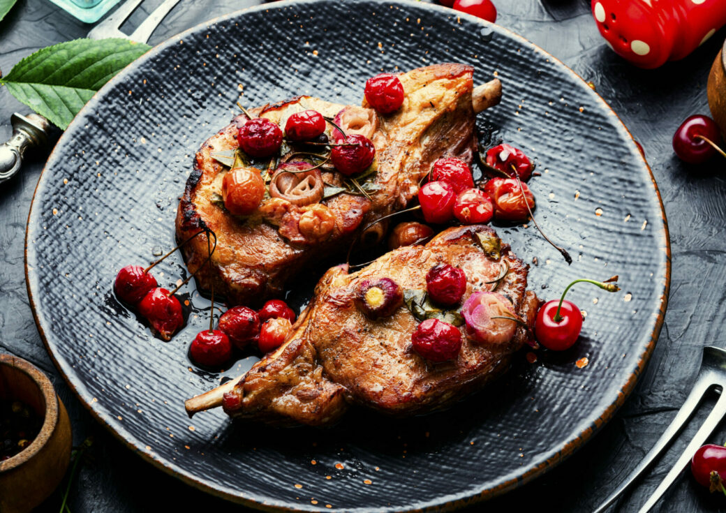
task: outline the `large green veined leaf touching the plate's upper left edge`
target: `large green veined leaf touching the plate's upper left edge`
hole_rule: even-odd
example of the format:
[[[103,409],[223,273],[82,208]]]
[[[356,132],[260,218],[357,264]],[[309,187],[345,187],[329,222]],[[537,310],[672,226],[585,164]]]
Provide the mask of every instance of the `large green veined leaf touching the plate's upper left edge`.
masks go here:
[[[150,48],[126,39],[76,39],[25,57],[0,83],[65,130],[96,91]]]

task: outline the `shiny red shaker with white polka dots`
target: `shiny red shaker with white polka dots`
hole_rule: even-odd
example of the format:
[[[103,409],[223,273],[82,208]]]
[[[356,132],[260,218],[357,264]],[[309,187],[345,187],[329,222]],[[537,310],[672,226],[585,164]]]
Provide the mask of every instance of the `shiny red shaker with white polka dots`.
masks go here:
[[[726,1],[592,0],[592,15],[616,54],[652,69],[682,59],[726,25]]]

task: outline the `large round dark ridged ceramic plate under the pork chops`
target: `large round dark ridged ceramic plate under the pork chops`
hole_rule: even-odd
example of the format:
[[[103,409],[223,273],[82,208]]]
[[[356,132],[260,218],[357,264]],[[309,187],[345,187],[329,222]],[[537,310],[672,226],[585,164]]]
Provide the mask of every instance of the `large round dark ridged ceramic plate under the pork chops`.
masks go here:
[[[537,219],[574,257],[567,266],[533,226],[499,234],[532,262],[550,299],[574,277],[619,274],[623,291],[582,285],[571,350],[526,351],[492,387],[449,411],[409,420],[352,411],[329,430],[187,419],[184,399],[223,378],[195,369],[187,346],[208,319],[191,287],[187,327],[153,337],[115,300],[113,278],[174,246],[178,197],[200,144],[244,102],[311,94],[356,103],[370,75],[435,62],[498,75],[499,107],[480,115],[537,161]],[[168,261],[172,260],[172,261]],[[172,288],[179,255],[155,271]],[[571,70],[519,36],[414,2],[281,2],[200,25],[113,79],[65,131],[33,200],[28,290],[49,353],[81,401],[144,459],[216,495],[266,509],[451,509],[526,483],[613,416],[661,329],[669,240],[656,184],[627,129]],[[309,292],[299,284],[298,299]],[[302,292],[301,292],[302,291]],[[589,364],[576,365],[581,358]],[[240,361],[231,376],[250,366]]]

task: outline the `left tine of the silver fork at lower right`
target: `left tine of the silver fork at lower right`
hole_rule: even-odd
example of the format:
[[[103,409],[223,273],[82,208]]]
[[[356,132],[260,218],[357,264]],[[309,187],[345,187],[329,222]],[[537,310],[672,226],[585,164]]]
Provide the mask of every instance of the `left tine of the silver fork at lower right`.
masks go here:
[[[635,483],[637,478],[640,477],[640,475],[642,475],[648,467],[650,467],[650,464],[652,464],[653,461],[661,455],[661,453],[670,445],[673,438],[680,432],[680,430],[682,430],[686,421],[688,421],[688,419],[690,419],[693,415],[693,411],[696,411],[696,407],[701,403],[703,395],[712,386],[714,386],[714,383],[710,379],[701,379],[701,375],[699,374],[693,390],[690,391],[688,398],[686,398],[683,406],[681,406],[680,410],[678,410],[678,413],[666,431],[663,435],[661,435],[661,438],[658,438],[656,445],[648,451],[648,454],[643,457],[638,466],[629,473],[622,483],[620,483],[619,487],[616,488],[616,490],[613,491],[613,493],[611,493],[610,496],[608,496],[608,498],[606,498],[605,501],[603,501],[603,503],[600,504],[600,506],[598,506],[592,513],[604,512],[605,509],[608,509],[608,506],[616,501],[621,493],[626,491],[627,488],[630,488],[630,485]]]

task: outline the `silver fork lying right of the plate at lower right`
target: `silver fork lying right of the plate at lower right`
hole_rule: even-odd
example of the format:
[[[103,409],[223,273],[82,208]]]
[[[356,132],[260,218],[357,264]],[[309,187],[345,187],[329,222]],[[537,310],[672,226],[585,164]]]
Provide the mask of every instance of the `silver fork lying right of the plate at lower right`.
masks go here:
[[[675,462],[670,472],[668,472],[668,475],[666,475],[661,484],[658,485],[658,488],[656,488],[656,491],[654,491],[650,498],[648,498],[648,501],[645,501],[645,504],[643,504],[638,513],[646,513],[650,511],[650,508],[656,505],[668,487],[674,483],[683,469],[685,469],[688,465],[688,461],[693,458],[693,454],[696,453],[696,450],[701,447],[704,442],[706,442],[706,438],[709,438],[711,432],[716,429],[716,426],[726,415],[726,350],[706,346],[703,348],[701,369],[698,370],[696,384],[693,385],[693,390],[691,390],[690,394],[688,394],[688,398],[686,398],[685,403],[681,406],[681,409],[676,414],[673,422],[671,422],[663,435],[661,435],[661,438],[658,438],[656,445],[648,451],[648,454],[646,454],[643,460],[640,461],[640,464],[638,464],[638,466],[630,472],[628,477],[626,477],[624,482],[619,485],[616,491],[606,498],[603,504],[600,504],[593,513],[604,512],[605,509],[608,509],[608,506],[611,506],[611,504],[615,502],[616,498],[618,498],[621,493],[626,491],[630,488],[630,485],[635,483],[635,480],[637,480],[637,478],[640,477],[640,475],[642,475],[648,467],[650,467],[650,464],[652,464],[653,461],[661,455],[666,447],[670,445],[673,438],[675,438],[680,430],[682,430],[685,423],[688,419],[690,419],[693,412],[696,411],[696,408],[701,403],[703,395],[714,387],[721,389],[721,397],[717,401],[716,406],[714,406],[714,409],[711,411],[709,416],[706,417],[706,420],[698,429],[696,435],[693,436],[693,439],[690,440],[688,447],[685,448],[685,451],[683,451],[680,455],[678,461]]]

